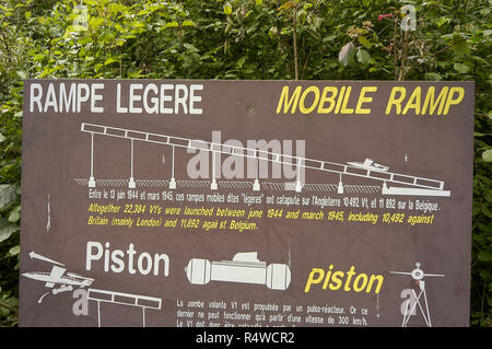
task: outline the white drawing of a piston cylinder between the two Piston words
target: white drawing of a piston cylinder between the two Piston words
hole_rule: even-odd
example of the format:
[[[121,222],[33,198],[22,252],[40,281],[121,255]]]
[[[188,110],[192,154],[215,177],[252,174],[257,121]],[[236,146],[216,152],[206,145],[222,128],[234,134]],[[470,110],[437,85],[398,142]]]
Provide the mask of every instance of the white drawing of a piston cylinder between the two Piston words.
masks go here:
[[[257,252],[237,253],[232,260],[210,261],[191,258],[185,268],[192,284],[209,281],[265,284],[284,291],[291,283],[291,269],[285,264],[270,264],[258,259]]]

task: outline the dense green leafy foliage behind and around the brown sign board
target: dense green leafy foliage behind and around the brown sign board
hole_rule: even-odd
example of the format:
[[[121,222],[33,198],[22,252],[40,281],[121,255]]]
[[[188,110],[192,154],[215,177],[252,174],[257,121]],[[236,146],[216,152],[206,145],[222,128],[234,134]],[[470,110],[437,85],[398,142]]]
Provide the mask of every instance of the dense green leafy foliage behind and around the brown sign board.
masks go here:
[[[473,80],[471,324],[491,326],[490,0],[3,0],[0,326],[19,305],[22,79]],[[294,42],[295,37],[295,42]]]

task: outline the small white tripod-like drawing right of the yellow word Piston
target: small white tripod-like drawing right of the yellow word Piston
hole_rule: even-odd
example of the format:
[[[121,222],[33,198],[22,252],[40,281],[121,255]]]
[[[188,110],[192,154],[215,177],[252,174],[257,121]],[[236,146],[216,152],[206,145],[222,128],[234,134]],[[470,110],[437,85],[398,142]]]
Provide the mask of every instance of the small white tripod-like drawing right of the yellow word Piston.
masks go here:
[[[427,327],[432,327],[431,313],[429,312],[427,294],[425,292],[425,281],[423,279],[424,279],[424,277],[444,277],[444,275],[443,274],[426,274],[420,267],[421,267],[421,264],[415,263],[415,269],[413,269],[410,272],[409,271],[389,271],[390,274],[411,276],[412,279],[415,280],[415,283],[419,286],[419,289],[420,289],[419,295],[417,295],[417,292],[414,289],[411,289],[412,296],[410,298],[410,300],[407,301],[407,304],[405,306],[403,322],[401,324],[401,327],[407,327],[410,316],[412,314],[414,314],[417,305],[419,305],[419,309],[422,313],[422,316],[423,316]],[[423,304],[421,304],[422,295],[423,295]],[[422,305],[425,306],[425,311],[423,310]]]

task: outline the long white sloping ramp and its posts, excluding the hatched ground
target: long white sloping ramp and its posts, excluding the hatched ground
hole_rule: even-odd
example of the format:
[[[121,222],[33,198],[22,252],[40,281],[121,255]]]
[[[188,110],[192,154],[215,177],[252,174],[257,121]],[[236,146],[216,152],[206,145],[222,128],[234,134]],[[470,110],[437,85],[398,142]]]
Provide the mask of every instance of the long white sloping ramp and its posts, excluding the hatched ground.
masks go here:
[[[279,163],[283,165],[295,165],[298,168],[316,170],[325,173],[332,173],[339,176],[339,183],[337,191],[343,194],[344,185],[342,183],[343,176],[366,178],[382,183],[383,195],[406,195],[406,196],[442,196],[449,197],[450,191],[444,189],[444,182],[424,178],[419,176],[412,176],[400,173],[389,172],[389,167],[375,163],[372,159],[365,159],[363,162],[348,162],[336,163],[329,161],[321,161],[315,159],[307,159],[302,156],[289,155],[267,150],[251,149],[244,147],[234,147],[222,143],[214,143],[202,140],[194,140],[189,138],[181,138],[176,136],[151,133],[139,130],[124,129],[112,126],[95,125],[95,124],[81,124],[81,131],[91,135],[91,174],[87,181],[89,187],[95,187],[96,182],[94,177],[94,136],[114,137],[128,139],[130,141],[130,177],[128,179],[128,187],[134,188],[137,182],[133,177],[133,143],[136,141],[148,142],[154,144],[162,144],[172,147],[173,161],[172,161],[172,176],[167,182],[171,189],[176,188],[176,178],[174,177],[174,155],[176,148],[192,149],[199,151],[209,151],[212,153],[212,178],[210,183],[210,189],[218,189],[218,182],[215,178],[215,155],[218,153],[232,156],[242,156],[248,159],[255,159],[255,165],[258,167],[259,161],[267,161],[271,163]],[[256,170],[257,171],[257,170]],[[391,185],[391,186],[389,186]],[[305,184],[295,182],[292,188],[301,193]],[[260,184],[258,178],[253,183],[253,190],[260,190]]]

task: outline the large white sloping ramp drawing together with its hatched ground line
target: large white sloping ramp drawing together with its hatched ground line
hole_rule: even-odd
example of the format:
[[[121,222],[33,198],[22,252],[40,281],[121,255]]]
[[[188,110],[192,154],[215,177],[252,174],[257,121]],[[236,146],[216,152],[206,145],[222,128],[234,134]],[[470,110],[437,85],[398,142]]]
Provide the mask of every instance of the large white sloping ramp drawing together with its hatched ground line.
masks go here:
[[[128,186],[128,188],[136,188],[139,186],[149,185],[163,185],[169,189],[176,189],[178,184],[186,185],[190,181],[177,181],[175,177],[175,151],[177,149],[192,149],[199,151],[208,151],[212,154],[212,175],[210,181],[191,181],[197,185],[202,184],[210,185],[211,190],[216,190],[219,188],[219,182],[215,176],[215,158],[216,154],[230,155],[230,156],[241,156],[246,159],[254,159],[256,166],[258,167],[258,162],[270,162],[279,163],[284,165],[295,165],[297,171],[301,168],[318,171],[326,174],[335,174],[338,176],[338,184],[336,184],[336,190],[338,194],[343,194],[344,190],[353,187],[353,185],[347,185],[343,183],[344,178],[356,177],[367,179],[370,183],[362,186],[364,189],[362,191],[372,191],[374,187],[378,188],[383,195],[405,195],[405,196],[436,196],[436,197],[449,197],[450,190],[445,189],[445,184],[443,181],[413,176],[409,174],[390,172],[388,166],[378,164],[372,159],[365,159],[362,162],[349,161],[347,163],[337,163],[324,160],[302,158],[291,154],[284,154],[279,152],[272,152],[261,149],[251,149],[245,147],[233,147],[223,143],[214,143],[203,140],[195,140],[189,138],[183,138],[171,135],[160,135],[145,132],[133,129],[124,129],[113,126],[96,125],[82,123],[80,130],[86,132],[91,136],[91,162],[90,162],[90,176],[89,178],[75,178],[80,185],[87,185],[90,188],[96,187],[96,185],[107,185],[114,183],[122,183]],[[109,137],[109,138],[120,138],[127,139],[130,146],[130,173],[128,178],[98,178],[96,179],[94,173],[94,142],[95,137]],[[136,179],[134,177],[134,143],[154,143],[161,144],[163,147],[172,148],[172,164],[171,164],[171,177],[160,178],[160,179],[149,179],[141,178]],[[257,172],[257,168],[256,168]],[[122,182],[121,182],[122,181]],[[222,185],[226,185],[229,181],[222,181]],[[377,185],[374,185],[376,183]],[[234,185],[233,183],[230,183]],[[238,185],[245,187],[250,187],[253,190],[258,191],[261,188],[258,177],[255,178],[253,183],[239,182]],[[295,183],[285,183],[283,185],[283,190],[295,190],[301,193],[306,189],[309,184],[302,183],[300,176]],[[317,186],[317,188],[323,188],[329,186],[329,184],[311,184],[312,186]],[[276,183],[263,183],[263,188],[268,186],[279,189]],[[333,188],[332,185],[329,188]],[[368,188],[368,189],[367,189]]]

